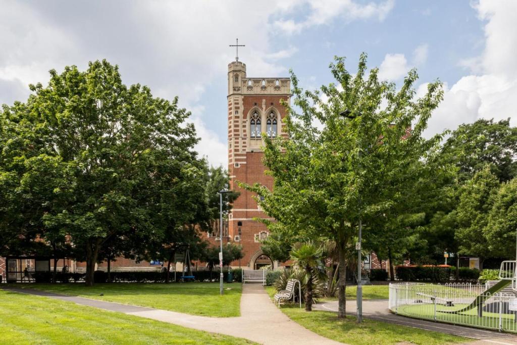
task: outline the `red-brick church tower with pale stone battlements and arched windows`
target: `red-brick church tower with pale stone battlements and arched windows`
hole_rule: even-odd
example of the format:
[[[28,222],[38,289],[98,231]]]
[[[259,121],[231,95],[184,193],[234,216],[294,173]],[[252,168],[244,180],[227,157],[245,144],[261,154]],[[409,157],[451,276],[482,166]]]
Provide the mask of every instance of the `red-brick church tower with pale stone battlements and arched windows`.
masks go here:
[[[258,269],[272,262],[261,251],[260,240],[268,230],[253,221],[254,217],[267,216],[253,200],[254,193],[240,188],[237,181],[272,188],[273,179],[264,174],[262,164],[262,133],[271,138],[287,136],[281,100],[289,102],[290,92],[289,78],[248,78],[244,63],[234,61],[228,65],[228,172],[231,189],[240,192],[229,215],[228,241],[242,246],[245,256],[240,265],[245,269]]]

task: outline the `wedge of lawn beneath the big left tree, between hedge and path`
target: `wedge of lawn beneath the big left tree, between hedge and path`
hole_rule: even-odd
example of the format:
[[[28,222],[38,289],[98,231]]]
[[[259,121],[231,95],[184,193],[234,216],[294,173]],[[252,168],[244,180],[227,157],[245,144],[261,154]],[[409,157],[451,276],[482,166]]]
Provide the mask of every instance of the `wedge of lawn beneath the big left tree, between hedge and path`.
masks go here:
[[[106,283],[86,287],[81,283],[12,284],[17,288],[38,289],[65,295],[102,299],[209,317],[240,315],[241,283]],[[100,296],[103,294],[103,296]]]

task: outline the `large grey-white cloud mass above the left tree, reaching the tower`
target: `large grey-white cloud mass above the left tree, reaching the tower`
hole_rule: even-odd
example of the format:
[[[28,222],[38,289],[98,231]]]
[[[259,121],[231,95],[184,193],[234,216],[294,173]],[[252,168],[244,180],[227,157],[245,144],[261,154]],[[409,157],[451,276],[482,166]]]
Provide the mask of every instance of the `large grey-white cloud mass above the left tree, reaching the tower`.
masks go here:
[[[0,0],[0,103],[26,99],[27,85],[46,84],[52,68],[84,69],[88,61],[107,58],[119,65],[124,83],[148,85],[155,96],[168,99],[178,95],[181,106],[193,110],[202,137],[200,154],[226,166],[226,138],[207,130],[200,116],[202,96],[211,84],[226,79],[225,66],[235,56],[228,45],[236,34],[246,44],[239,57],[250,74],[286,74],[281,61],[297,49],[272,50],[263,20],[289,13],[293,4]]]

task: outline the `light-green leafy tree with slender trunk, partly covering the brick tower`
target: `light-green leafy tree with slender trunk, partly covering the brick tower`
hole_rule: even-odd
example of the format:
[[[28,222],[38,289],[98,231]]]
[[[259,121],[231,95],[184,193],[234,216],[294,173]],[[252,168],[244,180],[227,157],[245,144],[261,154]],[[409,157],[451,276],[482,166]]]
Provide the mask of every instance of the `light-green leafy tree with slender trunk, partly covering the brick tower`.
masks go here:
[[[337,84],[316,92],[304,92],[292,75],[294,101],[286,104],[285,118],[289,138],[264,138],[273,190],[247,188],[264,197],[261,207],[282,224],[272,223],[272,229],[336,242],[338,316],[344,318],[346,248],[361,221],[368,224],[402,202],[401,185],[420,181],[421,167],[440,139],[425,140],[421,134],[443,92],[439,82],[430,83],[428,93],[415,100],[414,70],[397,90],[378,80],[377,68],[367,74],[366,54],[355,75],[340,57],[330,70]]]

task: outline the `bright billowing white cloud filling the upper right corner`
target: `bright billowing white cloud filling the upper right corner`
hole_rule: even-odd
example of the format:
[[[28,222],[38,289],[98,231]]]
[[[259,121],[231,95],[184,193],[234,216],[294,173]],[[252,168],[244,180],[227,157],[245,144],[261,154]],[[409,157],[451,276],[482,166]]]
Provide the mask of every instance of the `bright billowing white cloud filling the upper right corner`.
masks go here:
[[[484,51],[460,61],[475,74],[445,89],[444,101],[426,131],[428,136],[479,118],[511,118],[511,124],[517,125],[517,2],[482,0],[474,7],[480,19],[487,20]]]

